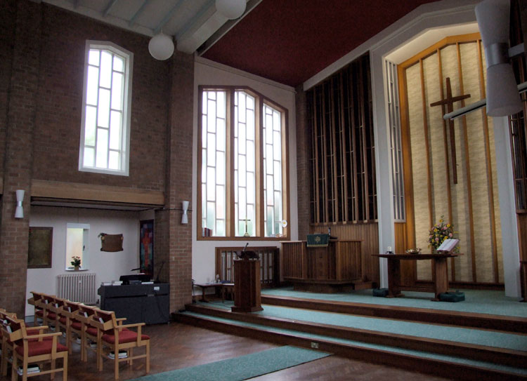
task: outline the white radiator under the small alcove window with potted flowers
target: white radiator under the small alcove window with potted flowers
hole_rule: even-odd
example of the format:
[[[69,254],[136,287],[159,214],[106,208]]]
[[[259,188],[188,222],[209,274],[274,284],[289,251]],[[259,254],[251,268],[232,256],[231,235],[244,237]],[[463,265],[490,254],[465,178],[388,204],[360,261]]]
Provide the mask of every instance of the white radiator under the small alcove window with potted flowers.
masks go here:
[[[95,273],[74,272],[58,275],[57,296],[72,302],[94,305],[97,302]]]

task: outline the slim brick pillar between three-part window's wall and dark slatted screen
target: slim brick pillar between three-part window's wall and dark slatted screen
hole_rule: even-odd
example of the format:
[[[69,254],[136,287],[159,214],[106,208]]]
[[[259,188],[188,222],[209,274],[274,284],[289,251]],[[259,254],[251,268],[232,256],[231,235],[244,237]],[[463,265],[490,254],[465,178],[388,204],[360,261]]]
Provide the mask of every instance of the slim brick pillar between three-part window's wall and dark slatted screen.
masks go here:
[[[298,236],[306,239],[309,233],[309,131],[306,121],[306,93],[302,86],[296,88],[295,95],[297,119],[297,203]]]

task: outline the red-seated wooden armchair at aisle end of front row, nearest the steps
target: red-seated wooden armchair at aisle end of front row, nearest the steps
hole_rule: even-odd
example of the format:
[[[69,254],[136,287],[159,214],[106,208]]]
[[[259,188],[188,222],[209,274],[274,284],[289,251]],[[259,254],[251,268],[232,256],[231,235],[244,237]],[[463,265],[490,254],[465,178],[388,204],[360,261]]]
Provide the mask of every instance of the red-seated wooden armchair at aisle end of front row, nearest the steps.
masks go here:
[[[132,365],[134,359],[146,359],[146,373],[150,372],[150,337],[141,333],[145,323],[119,324],[112,311],[96,309],[92,316],[93,325],[98,328],[98,366],[103,370],[103,356],[114,361],[115,380],[119,380],[119,361]],[[136,331],[130,328],[136,328]],[[134,348],[145,347],[145,354],[134,356]],[[119,352],[126,351],[126,357],[119,359]],[[110,353],[114,354],[113,359]]]

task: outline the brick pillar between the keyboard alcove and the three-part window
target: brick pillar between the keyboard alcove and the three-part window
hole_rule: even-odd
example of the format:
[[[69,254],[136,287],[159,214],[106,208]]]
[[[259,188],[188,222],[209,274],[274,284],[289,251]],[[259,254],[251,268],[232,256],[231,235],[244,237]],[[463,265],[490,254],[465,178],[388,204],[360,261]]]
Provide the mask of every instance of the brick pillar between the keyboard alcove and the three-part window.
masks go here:
[[[190,201],[191,208],[194,56],[174,52],[170,76],[165,208],[157,211],[155,218],[160,228],[156,237],[162,240],[162,251],[156,254],[157,265],[164,258],[166,263],[160,279],[170,283],[170,309],[174,312],[192,302],[192,220],[195,216],[190,211],[188,224],[181,224],[181,201]]]

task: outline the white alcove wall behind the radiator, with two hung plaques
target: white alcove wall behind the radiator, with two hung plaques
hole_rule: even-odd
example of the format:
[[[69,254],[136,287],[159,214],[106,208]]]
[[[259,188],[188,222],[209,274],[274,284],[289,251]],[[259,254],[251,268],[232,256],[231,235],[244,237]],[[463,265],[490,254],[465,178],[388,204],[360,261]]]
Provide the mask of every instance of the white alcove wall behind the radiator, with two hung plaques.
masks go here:
[[[32,206],[30,227],[53,227],[51,269],[27,269],[27,298],[31,291],[56,295],[57,275],[66,274],[66,224],[89,224],[89,272],[96,273],[96,288],[103,281],[118,280],[139,264],[139,220],[153,218],[151,213],[86,208],[59,208]],[[123,251],[100,251],[98,234],[123,234]],[[34,314],[33,306],[26,304],[25,315]]]

